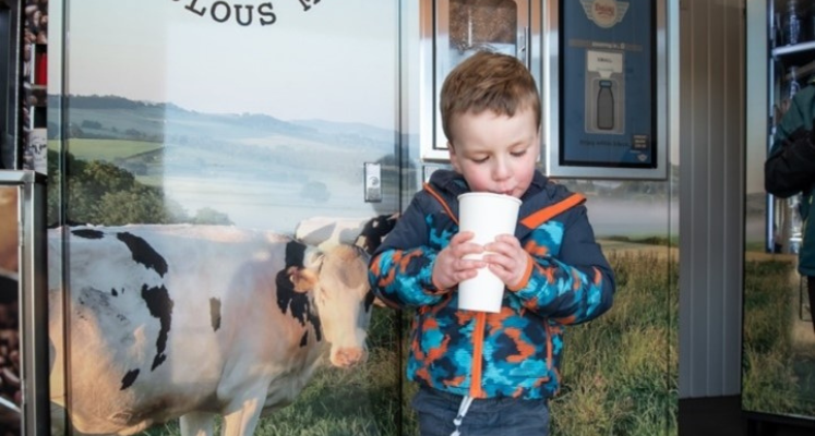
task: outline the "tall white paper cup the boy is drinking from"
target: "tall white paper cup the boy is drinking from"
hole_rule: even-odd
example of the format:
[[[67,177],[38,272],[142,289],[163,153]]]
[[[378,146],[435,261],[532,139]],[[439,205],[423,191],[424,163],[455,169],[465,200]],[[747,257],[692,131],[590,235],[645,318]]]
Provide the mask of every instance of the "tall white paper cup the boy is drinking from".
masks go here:
[[[471,242],[486,245],[499,234],[515,234],[520,199],[510,195],[471,192],[458,196],[458,229],[475,233]],[[481,258],[481,255],[468,258]],[[488,267],[458,283],[458,308],[501,312],[504,282]]]

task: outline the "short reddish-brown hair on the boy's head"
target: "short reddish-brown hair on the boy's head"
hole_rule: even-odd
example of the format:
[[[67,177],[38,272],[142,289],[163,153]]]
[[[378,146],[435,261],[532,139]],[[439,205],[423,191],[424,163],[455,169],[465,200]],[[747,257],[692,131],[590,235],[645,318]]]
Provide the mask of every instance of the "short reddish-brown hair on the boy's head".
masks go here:
[[[490,110],[513,117],[518,110],[532,110],[536,129],[540,128],[541,108],[535,77],[517,58],[479,51],[456,65],[442,85],[440,98],[442,129],[453,142],[454,116]]]

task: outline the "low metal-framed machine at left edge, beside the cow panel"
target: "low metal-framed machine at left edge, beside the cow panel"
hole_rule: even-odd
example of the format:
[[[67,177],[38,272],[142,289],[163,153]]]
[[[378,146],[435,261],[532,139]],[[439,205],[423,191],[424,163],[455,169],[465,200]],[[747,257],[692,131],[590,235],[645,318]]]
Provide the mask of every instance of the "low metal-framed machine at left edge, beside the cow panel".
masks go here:
[[[0,431],[50,432],[45,177],[0,171]]]

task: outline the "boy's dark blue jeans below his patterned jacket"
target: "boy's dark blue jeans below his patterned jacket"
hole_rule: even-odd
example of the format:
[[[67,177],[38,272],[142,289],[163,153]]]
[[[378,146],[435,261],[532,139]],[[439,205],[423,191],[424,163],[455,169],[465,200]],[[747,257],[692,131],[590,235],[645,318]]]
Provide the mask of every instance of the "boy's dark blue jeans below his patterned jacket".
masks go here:
[[[450,436],[462,397],[420,388],[411,401],[421,436]],[[549,436],[547,400],[474,400],[458,427],[462,436]]]

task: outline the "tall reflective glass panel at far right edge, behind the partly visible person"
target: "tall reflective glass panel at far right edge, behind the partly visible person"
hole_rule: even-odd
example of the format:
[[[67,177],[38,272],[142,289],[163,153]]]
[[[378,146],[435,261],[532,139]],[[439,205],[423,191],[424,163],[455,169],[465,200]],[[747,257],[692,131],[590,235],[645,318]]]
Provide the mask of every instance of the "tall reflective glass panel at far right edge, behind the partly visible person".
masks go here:
[[[806,88],[815,77],[815,35],[803,32],[810,28],[804,24],[815,23],[810,19],[815,16],[810,3],[774,0],[758,4],[748,13],[753,17],[748,23],[757,24],[757,32],[747,34],[758,35],[759,44],[747,44],[748,59],[753,59],[753,65],[746,70],[747,87],[766,92],[746,94],[748,129],[754,130],[747,131],[745,174],[742,408],[748,412],[815,419],[812,293],[807,292],[806,276],[801,270],[800,261],[806,255],[799,257],[805,250],[807,222],[810,227],[813,222],[812,217],[806,219],[812,210],[812,187],[783,193],[783,197],[765,191],[765,186],[791,180],[789,169],[800,164],[795,158],[782,165],[786,169],[770,164],[777,177],[765,180],[765,164],[772,149],[793,146],[794,141],[786,140],[794,137],[793,132],[799,128],[812,128],[812,101],[799,101],[799,108],[803,109],[790,110],[796,95],[812,92]],[[767,32],[775,37],[762,38]],[[765,41],[775,46],[763,46]],[[769,137],[766,132],[770,132]],[[807,183],[813,181],[810,178]]]

